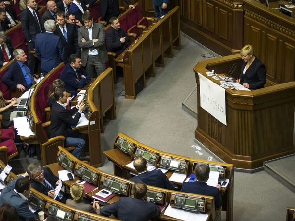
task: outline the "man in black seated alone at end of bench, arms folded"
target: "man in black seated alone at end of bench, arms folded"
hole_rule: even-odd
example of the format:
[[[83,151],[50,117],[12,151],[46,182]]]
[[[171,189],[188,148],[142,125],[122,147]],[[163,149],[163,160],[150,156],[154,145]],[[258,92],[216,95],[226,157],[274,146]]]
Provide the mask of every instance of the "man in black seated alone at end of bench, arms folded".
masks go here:
[[[110,28],[106,34],[108,52],[115,52],[118,57],[126,48],[126,43],[129,42],[128,34],[120,27],[120,22],[117,17],[110,18]]]

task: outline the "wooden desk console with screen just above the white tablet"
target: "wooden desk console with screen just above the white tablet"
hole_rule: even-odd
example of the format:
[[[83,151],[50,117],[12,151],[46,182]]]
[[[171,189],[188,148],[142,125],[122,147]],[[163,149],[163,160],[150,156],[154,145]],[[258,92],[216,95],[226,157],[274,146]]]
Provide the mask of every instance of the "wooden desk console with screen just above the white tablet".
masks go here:
[[[130,180],[121,179],[110,174],[101,174],[100,189],[106,189],[113,193],[129,196]]]

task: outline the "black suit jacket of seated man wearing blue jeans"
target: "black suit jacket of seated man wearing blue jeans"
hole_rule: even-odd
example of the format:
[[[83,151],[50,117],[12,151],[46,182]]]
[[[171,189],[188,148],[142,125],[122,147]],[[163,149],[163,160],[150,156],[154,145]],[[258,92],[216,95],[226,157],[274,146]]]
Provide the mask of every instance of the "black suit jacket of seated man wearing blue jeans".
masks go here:
[[[81,117],[80,113],[77,113],[78,109],[76,107],[71,110],[67,110],[62,107],[57,102],[52,105],[51,116],[50,116],[50,126],[49,134],[50,138],[62,135],[67,137],[68,129],[71,129],[71,126],[76,126]],[[76,116],[72,118],[72,115],[75,113]]]

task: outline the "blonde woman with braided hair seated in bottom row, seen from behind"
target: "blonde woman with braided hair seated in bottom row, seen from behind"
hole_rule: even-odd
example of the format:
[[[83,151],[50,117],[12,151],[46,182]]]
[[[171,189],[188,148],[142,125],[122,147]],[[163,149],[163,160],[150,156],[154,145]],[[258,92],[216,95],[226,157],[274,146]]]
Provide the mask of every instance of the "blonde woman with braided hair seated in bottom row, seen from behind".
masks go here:
[[[65,204],[72,206],[78,210],[83,210],[89,213],[100,214],[100,207],[97,201],[93,201],[91,204],[86,204],[83,202],[83,197],[85,196],[85,189],[82,184],[73,183],[70,187],[70,193],[73,199],[66,200]]]

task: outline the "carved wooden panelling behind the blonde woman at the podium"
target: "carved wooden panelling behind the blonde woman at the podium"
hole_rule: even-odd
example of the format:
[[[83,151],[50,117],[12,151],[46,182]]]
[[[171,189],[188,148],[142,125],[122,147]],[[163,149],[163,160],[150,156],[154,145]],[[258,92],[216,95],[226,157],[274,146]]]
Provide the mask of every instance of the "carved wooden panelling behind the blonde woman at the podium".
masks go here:
[[[263,14],[246,10],[244,33],[244,44],[251,44],[255,56],[266,65],[269,83],[295,81],[295,29],[286,30],[266,21]]]

